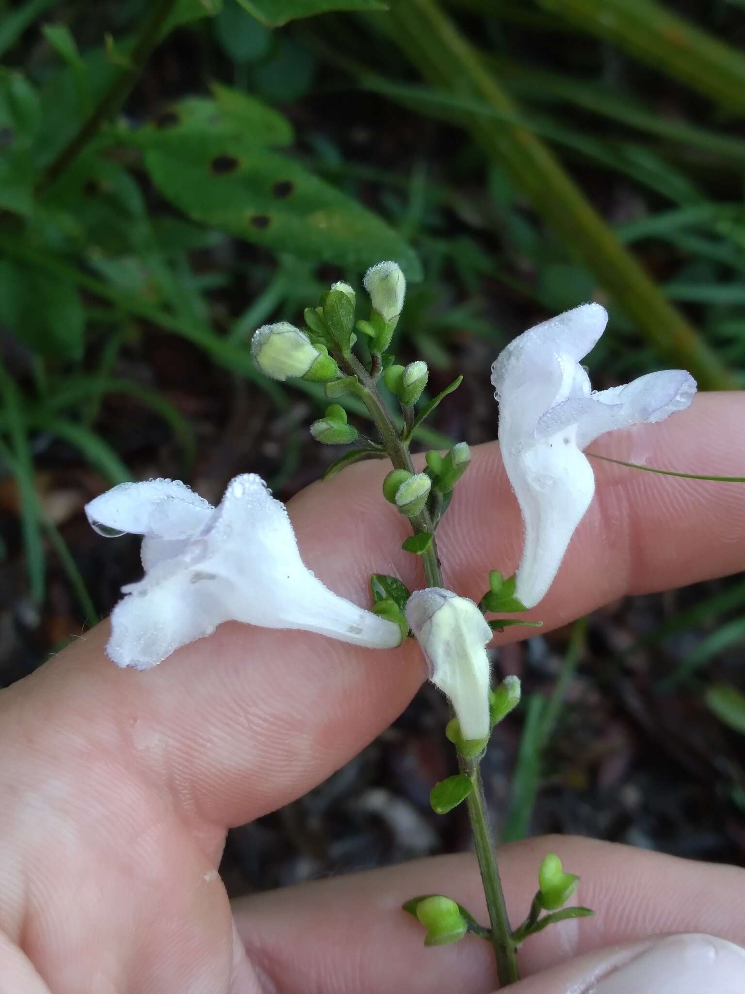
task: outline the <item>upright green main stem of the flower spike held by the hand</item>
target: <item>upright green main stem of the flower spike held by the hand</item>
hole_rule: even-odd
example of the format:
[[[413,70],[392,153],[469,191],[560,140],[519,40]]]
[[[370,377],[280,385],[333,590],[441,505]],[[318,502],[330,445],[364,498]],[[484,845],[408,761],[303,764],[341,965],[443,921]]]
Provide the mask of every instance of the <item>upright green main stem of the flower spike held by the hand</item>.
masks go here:
[[[413,472],[408,446],[401,441],[398,429],[383,404],[371,375],[351,352],[339,357],[339,362],[346,373],[357,377],[360,383],[358,396],[373,418],[373,423],[379,432],[380,440],[385,446],[393,467]],[[414,534],[429,532],[433,536],[429,549],[422,554],[422,566],[428,586],[444,586],[440,558],[437,555],[429,513],[423,511],[422,514],[413,518],[411,527]],[[495,856],[492,830],[484,796],[484,784],[481,778],[481,766],[479,759],[466,758],[460,752],[457,755],[460,771],[470,777],[474,784],[474,789],[468,795],[468,817],[474,836],[479,871],[484,884],[489,920],[492,925],[491,943],[497,960],[497,973],[500,986],[505,987],[520,980],[520,972],[515,942],[510,929],[510,919],[505,905],[505,895],[502,890],[502,881],[497,867],[497,857]]]

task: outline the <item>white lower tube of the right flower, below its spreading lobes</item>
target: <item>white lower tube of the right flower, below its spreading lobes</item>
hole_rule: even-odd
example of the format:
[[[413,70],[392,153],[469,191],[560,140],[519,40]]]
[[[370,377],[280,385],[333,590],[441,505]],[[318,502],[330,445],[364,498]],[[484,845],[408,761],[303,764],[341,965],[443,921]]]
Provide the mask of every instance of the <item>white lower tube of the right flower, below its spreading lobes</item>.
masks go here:
[[[525,530],[515,594],[525,607],[543,598],[595,493],[595,477],[573,439],[551,436],[519,456],[505,454]]]

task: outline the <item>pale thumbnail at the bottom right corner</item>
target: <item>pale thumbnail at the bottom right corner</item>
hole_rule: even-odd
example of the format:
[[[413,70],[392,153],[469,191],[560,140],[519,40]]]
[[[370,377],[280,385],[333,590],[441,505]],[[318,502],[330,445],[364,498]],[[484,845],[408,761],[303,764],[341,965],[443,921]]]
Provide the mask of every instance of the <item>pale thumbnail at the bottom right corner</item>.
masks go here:
[[[669,935],[587,994],[743,994],[745,949],[712,935]]]

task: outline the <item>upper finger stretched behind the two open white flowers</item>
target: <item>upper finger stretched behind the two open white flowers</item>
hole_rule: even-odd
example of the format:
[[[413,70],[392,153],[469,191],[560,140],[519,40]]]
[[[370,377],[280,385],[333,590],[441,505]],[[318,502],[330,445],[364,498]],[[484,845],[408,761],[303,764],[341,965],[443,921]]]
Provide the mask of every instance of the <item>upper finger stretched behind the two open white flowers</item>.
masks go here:
[[[744,415],[742,395],[706,395],[669,421],[595,446],[663,467],[742,472],[745,432],[731,425]],[[531,612],[546,627],[625,592],[745,568],[738,485],[606,463],[595,468],[596,499],[553,588]],[[369,602],[372,572],[397,575],[411,587],[423,583],[416,558],[400,550],[408,525],[380,496],[384,471],[376,462],[352,467],[291,504],[307,564],[358,603]],[[515,569],[521,543],[498,446],[482,446],[441,529],[446,584],[479,597],[489,570]],[[60,761],[63,745],[81,734],[91,748],[115,748],[198,825],[239,824],[302,794],[385,728],[424,678],[411,641],[374,652],[233,623],[154,670],[135,673],[103,658],[105,638],[99,627],[15,694],[39,702]],[[9,708],[8,721],[13,714]]]

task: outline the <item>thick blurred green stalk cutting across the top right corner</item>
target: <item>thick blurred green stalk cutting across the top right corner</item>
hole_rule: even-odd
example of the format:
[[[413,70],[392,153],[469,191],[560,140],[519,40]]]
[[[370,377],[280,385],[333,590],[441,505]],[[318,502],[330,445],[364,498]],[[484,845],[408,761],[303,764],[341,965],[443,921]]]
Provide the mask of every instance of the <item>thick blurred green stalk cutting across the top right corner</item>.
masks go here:
[[[654,0],[537,0],[588,34],[625,49],[728,110],[745,112],[745,59]]]

